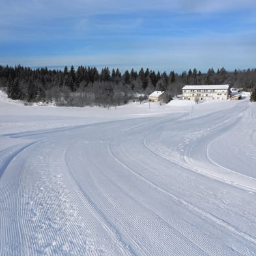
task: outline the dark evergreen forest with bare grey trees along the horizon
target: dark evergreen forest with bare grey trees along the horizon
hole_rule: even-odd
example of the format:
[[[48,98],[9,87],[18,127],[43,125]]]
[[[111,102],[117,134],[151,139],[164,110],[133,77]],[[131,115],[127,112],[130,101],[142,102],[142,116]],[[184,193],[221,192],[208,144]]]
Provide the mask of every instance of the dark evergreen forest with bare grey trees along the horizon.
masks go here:
[[[117,106],[147,97],[152,91],[166,91],[166,101],[181,93],[184,84],[210,85],[229,83],[231,87],[252,90],[256,85],[256,69],[235,70],[225,68],[201,72],[196,68],[177,74],[155,72],[141,68],[139,72],[119,68],[109,70],[106,66],[100,71],[96,67],[71,66],[63,70],[29,68],[0,65],[0,87],[6,89],[8,97],[26,102],[54,102],[58,106]],[[145,97],[143,96],[145,95]]]

